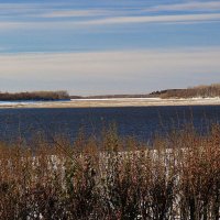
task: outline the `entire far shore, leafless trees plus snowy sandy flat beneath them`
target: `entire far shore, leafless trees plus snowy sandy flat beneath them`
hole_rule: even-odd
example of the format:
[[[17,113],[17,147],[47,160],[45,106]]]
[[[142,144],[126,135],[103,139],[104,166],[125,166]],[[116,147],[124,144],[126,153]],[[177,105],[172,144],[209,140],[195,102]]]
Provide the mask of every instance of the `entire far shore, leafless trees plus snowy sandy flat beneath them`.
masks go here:
[[[220,105],[220,84],[148,95],[70,96],[67,91],[0,92],[2,108],[106,108]]]

